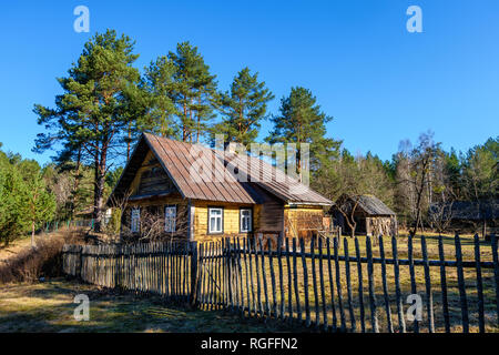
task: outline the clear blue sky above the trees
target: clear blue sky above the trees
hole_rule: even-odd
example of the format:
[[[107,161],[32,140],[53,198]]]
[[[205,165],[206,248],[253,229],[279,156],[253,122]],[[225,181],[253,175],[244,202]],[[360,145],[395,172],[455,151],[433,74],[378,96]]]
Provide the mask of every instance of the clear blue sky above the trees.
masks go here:
[[[90,9],[90,33],[73,30],[73,9]],[[409,6],[422,33],[406,30]],[[310,89],[333,115],[327,134],[354,154],[390,159],[400,140],[432,130],[466,151],[499,134],[499,1],[11,1],[0,12],[0,142],[31,152],[42,128],[34,103],[53,106],[65,75],[95,31],[136,40],[136,67],[189,40],[220,88],[247,65],[274,92]],[[269,131],[264,123],[261,138]]]

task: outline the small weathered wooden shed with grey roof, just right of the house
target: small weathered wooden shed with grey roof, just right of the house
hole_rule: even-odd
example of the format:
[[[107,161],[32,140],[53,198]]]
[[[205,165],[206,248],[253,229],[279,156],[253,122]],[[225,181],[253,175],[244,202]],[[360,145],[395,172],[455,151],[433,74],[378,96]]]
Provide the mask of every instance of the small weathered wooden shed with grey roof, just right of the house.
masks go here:
[[[342,213],[343,212],[343,213]],[[397,235],[397,216],[375,195],[342,195],[330,209],[335,225],[349,234],[346,219],[356,223],[356,234]]]

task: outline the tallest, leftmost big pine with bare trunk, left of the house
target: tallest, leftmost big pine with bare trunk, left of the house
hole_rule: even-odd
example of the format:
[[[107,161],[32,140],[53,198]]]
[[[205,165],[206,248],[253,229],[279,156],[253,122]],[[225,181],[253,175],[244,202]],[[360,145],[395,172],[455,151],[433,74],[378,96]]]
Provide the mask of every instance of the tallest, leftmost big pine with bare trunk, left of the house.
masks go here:
[[[38,149],[53,148],[54,143],[62,143],[65,150],[81,148],[81,159],[93,165],[96,232],[101,230],[105,174],[122,151],[132,119],[124,114],[125,94],[140,80],[132,67],[139,57],[133,47],[129,37],[119,38],[113,30],[96,33],[84,44],[69,75],[58,79],[64,93],[57,97],[57,109],[34,108],[39,124],[54,131],[39,136]]]

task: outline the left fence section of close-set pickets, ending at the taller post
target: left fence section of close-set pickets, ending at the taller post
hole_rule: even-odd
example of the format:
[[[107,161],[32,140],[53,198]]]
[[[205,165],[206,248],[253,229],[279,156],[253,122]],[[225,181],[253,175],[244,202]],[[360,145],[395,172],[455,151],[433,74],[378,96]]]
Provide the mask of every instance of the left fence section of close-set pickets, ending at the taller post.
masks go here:
[[[64,273],[86,283],[161,294],[182,303],[193,298],[195,243],[67,244],[62,252]]]

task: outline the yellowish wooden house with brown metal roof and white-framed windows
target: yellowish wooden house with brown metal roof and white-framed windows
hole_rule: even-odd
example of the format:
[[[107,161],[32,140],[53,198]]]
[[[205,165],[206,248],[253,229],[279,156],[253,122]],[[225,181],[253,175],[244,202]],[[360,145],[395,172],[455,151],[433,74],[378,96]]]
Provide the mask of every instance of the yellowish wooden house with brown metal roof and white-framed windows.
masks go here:
[[[190,241],[312,235],[333,204],[259,158],[147,133],[108,203],[122,207],[122,234]]]

